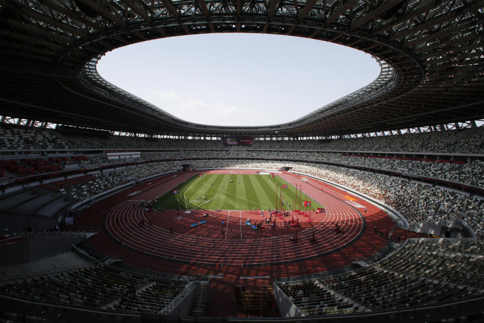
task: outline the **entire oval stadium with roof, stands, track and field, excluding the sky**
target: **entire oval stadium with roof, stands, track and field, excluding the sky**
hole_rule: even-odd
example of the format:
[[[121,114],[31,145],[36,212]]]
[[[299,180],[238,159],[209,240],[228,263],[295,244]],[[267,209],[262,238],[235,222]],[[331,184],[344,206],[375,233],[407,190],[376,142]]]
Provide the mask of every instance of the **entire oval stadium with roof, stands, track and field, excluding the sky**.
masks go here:
[[[0,320],[484,321],[483,14],[0,0]],[[269,126],[189,122],[97,71],[113,49],[209,33],[331,42],[381,71]]]

